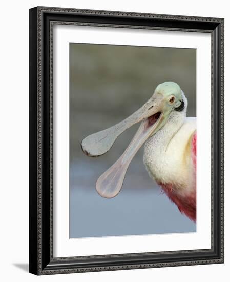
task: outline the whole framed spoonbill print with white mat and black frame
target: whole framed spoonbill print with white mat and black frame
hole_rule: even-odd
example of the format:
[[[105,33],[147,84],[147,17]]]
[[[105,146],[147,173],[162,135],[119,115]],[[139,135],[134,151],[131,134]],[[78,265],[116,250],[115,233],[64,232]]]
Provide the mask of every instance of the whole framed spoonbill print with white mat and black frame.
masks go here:
[[[30,269],[224,262],[224,19],[30,9]]]

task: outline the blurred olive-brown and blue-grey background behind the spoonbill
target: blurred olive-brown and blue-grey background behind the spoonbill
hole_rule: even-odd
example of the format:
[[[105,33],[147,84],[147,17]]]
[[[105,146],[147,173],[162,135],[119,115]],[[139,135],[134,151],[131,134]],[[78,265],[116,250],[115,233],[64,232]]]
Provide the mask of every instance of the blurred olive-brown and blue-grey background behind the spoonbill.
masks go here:
[[[139,124],[121,134],[111,150],[90,158],[81,140],[126,118],[159,83],[178,83],[196,116],[196,50],[70,44],[70,237],[196,232],[143,164],[143,147],[132,160],[120,193],[100,197],[97,178],[127,148]]]

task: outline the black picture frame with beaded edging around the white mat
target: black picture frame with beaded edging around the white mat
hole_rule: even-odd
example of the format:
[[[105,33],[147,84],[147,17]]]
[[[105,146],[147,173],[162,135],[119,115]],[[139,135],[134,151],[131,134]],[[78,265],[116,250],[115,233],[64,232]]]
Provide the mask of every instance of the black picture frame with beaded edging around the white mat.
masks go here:
[[[30,9],[29,272],[36,275],[224,262],[224,19],[53,7]],[[212,35],[212,248],[53,257],[52,23],[208,32]]]

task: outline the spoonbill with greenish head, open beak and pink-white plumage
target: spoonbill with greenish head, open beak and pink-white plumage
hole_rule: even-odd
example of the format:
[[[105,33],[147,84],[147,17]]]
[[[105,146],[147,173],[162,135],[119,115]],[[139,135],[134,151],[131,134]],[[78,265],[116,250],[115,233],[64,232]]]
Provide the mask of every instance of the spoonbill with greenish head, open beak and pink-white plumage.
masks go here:
[[[196,222],[196,117],[186,117],[187,98],[175,82],[159,84],[152,97],[120,123],[93,133],[81,142],[87,156],[108,152],[117,137],[141,123],[131,143],[96,182],[98,194],[113,198],[121,190],[127,169],[144,144],[143,163],[179,211]]]

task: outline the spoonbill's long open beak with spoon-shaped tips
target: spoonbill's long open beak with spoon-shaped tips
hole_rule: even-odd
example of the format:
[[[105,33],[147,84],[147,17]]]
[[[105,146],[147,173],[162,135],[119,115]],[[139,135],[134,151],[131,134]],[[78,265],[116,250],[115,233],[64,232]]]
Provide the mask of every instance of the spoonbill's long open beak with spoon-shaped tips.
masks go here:
[[[88,156],[99,156],[106,153],[115,142],[116,138],[132,125],[141,122],[139,129],[131,143],[119,159],[96,182],[96,190],[100,196],[113,198],[123,184],[129,164],[140,147],[151,135],[161,128],[164,117],[164,99],[161,94],[153,96],[139,110],[122,122],[106,130],[94,133],[81,142],[81,148]]]

